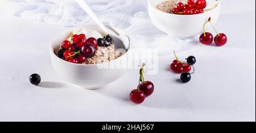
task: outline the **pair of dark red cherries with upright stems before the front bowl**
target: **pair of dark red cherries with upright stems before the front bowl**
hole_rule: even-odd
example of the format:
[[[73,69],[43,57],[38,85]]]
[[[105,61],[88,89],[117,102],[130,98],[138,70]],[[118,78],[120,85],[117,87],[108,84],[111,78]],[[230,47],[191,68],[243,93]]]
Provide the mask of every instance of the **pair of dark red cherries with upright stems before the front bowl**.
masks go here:
[[[141,104],[146,97],[152,95],[154,92],[154,84],[151,81],[144,81],[144,66],[145,64],[142,65],[139,71],[139,84],[137,89],[134,89],[130,93],[130,100],[135,104]]]

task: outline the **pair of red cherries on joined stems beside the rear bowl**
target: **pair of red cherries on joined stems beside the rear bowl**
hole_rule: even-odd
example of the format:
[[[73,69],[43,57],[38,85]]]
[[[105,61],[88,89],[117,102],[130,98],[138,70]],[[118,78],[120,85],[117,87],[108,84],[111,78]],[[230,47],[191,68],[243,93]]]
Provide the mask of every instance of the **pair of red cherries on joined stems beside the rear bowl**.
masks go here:
[[[209,18],[207,20],[207,22],[205,22],[204,24],[204,33],[201,34],[199,40],[202,44],[204,45],[210,45],[213,42],[213,36],[212,33],[209,32],[205,32],[205,25],[207,23],[210,23],[210,25],[212,25],[214,31],[217,33],[217,35],[214,37],[214,42],[217,46],[223,46],[226,44],[226,42],[228,42],[228,38],[226,37],[226,35],[224,33],[218,33],[216,28],[214,28],[212,22],[210,22],[211,18]]]

